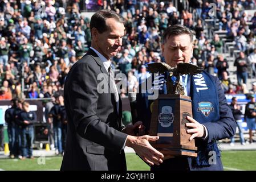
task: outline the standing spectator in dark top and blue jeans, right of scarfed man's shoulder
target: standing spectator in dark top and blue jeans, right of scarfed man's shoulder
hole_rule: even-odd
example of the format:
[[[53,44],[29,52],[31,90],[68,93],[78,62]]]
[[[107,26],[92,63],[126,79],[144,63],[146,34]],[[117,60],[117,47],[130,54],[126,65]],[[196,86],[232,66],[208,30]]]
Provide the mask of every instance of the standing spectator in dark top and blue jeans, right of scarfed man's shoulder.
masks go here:
[[[239,57],[234,61],[234,66],[237,67],[238,85],[242,85],[242,81],[244,84],[247,83],[248,65],[249,65],[249,60],[247,59],[247,57],[245,57],[245,53],[239,52]]]

